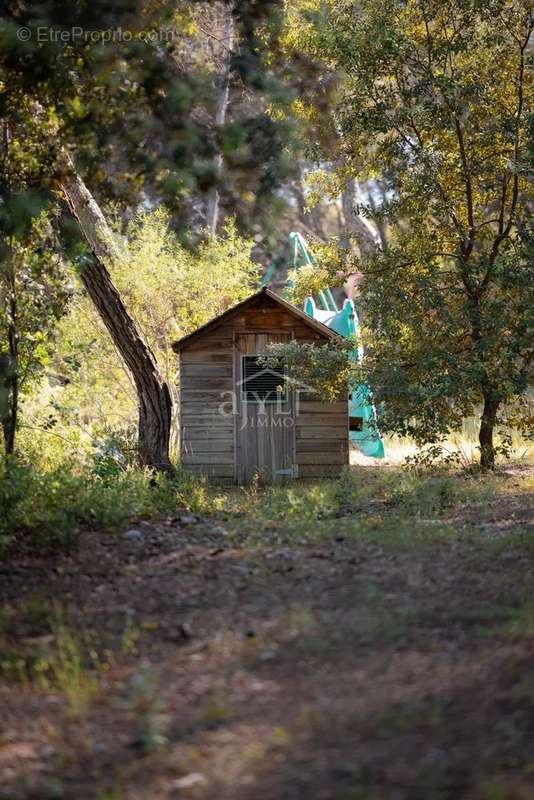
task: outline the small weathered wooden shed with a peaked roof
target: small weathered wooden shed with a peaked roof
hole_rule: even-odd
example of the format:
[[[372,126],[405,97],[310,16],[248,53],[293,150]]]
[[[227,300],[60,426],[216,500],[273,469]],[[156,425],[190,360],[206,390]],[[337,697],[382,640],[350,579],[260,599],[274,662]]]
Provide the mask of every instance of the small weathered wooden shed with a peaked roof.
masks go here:
[[[180,358],[181,463],[245,484],[338,475],[348,463],[348,401],[302,385],[284,389],[283,366],[258,363],[267,345],[321,344],[338,334],[262,289],[175,342]]]

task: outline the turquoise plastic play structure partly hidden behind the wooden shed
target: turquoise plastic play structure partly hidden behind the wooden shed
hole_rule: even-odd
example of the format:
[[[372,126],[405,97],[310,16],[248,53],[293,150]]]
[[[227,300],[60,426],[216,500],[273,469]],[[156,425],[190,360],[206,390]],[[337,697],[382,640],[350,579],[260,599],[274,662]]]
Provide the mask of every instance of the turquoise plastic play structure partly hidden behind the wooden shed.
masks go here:
[[[289,234],[291,248],[291,272],[287,285],[294,285],[295,273],[299,266],[314,265],[313,256],[308,250],[305,239],[300,233]],[[267,271],[263,282],[268,283],[274,274],[274,268]],[[319,292],[318,302],[313,297],[308,297],[304,303],[304,310],[314,319],[322,322],[341,336],[357,340],[360,333],[358,315],[354,303],[346,298],[342,308],[339,308],[331,289]],[[363,350],[361,345],[354,347],[353,357],[361,359]],[[366,456],[384,458],[384,442],[380,437],[377,426],[376,411],[373,406],[369,387],[365,384],[355,384],[350,387],[349,394],[349,425],[351,441]]]

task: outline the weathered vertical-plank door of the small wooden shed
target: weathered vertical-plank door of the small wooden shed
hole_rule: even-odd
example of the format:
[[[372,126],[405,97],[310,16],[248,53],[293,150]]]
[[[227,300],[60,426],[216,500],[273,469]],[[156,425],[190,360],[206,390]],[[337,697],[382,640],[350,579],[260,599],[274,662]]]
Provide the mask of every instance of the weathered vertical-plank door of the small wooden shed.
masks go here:
[[[236,337],[236,480],[255,474],[265,483],[296,477],[294,398],[278,391],[283,371],[257,364],[267,345],[287,334],[247,333]]]

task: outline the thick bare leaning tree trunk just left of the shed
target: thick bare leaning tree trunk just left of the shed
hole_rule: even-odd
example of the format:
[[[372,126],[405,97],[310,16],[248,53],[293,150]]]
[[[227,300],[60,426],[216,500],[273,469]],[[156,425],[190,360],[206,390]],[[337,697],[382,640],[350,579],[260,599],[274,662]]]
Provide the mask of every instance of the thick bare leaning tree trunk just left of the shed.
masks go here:
[[[139,405],[139,460],[142,466],[168,470],[172,401],[155,356],[121,300],[106,264],[117,253],[111,230],[98,203],[64,156],[59,182],[70,211],[80,224],[95,260],[80,277],[115,347],[130,370]]]

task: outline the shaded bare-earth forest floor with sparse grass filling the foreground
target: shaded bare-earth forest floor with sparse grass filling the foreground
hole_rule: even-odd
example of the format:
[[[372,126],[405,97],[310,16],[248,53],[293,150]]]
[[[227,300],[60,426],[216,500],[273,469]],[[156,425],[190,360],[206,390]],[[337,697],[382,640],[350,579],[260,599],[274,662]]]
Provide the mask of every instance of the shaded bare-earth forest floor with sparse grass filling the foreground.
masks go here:
[[[0,565],[2,800],[531,800],[534,469],[235,492]]]

